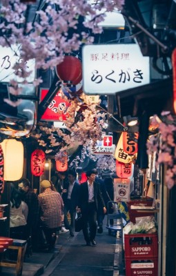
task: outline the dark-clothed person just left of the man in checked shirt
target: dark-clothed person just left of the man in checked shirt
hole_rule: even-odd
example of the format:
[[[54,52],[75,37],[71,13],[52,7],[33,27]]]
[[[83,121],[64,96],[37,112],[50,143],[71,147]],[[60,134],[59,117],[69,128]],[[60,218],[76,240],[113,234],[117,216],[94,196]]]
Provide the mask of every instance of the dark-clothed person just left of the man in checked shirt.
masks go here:
[[[31,237],[32,250],[36,250],[38,244],[39,201],[37,195],[30,190],[30,181],[27,178],[21,178],[18,186],[23,201],[28,205],[27,236]]]

